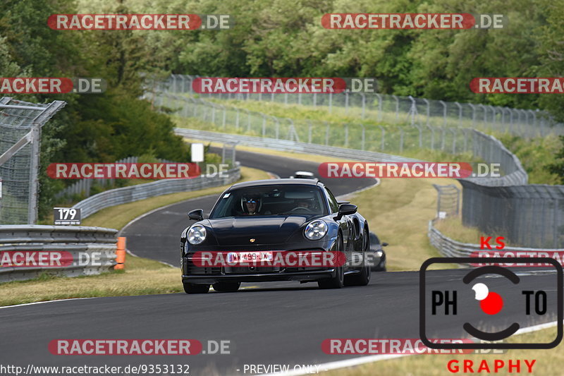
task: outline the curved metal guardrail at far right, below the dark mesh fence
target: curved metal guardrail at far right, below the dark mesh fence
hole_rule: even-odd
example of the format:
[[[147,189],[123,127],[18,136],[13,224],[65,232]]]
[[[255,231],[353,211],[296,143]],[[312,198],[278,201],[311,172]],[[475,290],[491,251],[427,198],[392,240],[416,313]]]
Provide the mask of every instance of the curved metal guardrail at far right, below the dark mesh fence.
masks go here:
[[[433,219],[429,221],[429,231],[427,235],[429,236],[429,241],[431,245],[433,245],[439,253],[445,257],[470,257],[472,253],[477,253],[479,251],[483,251],[480,249],[479,244],[472,244],[472,243],[461,243],[460,241],[455,241],[448,236],[445,236],[441,233],[436,227],[434,226]],[[523,248],[523,247],[509,247],[505,246],[503,248],[503,252],[512,252],[512,253],[519,253],[519,252],[564,252],[564,248]]]

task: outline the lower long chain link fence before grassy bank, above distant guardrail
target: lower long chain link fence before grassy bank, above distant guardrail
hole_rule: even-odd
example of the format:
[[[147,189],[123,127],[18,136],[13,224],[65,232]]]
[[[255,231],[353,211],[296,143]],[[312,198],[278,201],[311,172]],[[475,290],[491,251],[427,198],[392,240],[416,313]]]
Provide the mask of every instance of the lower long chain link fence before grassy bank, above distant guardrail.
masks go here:
[[[472,152],[472,129],[435,126],[369,126],[360,123],[279,118],[262,112],[232,107],[204,99],[163,92],[147,92],[157,108],[168,107],[172,116],[195,118],[190,128],[252,135],[275,140],[345,147],[374,152],[399,153],[421,149],[452,154]]]

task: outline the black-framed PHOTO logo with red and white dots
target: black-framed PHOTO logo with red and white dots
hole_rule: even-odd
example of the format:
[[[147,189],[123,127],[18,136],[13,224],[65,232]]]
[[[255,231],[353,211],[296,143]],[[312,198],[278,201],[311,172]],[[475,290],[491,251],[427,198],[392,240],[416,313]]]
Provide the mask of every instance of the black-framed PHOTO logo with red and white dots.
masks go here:
[[[419,336],[429,348],[553,348],[563,338],[563,269],[550,257],[514,257],[513,265],[545,263],[543,273],[501,267],[507,257],[489,257],[487,265],[458,269],[444,278],[440,272],[429,273],[433,264],[479,264],[480,257],[435,257],[419,269]],[[431,276],[429,274],[432,274]],[[448,281],[447,283],[445,283]],[[556,286],[555,286],[556,285]],[[498,343],[520,328],[557,320],[556,337],[546,343]],[[430,340],[437,332],[472,336],[482,343],[439,344]],[[445,333],[442,332],[441,335]]]

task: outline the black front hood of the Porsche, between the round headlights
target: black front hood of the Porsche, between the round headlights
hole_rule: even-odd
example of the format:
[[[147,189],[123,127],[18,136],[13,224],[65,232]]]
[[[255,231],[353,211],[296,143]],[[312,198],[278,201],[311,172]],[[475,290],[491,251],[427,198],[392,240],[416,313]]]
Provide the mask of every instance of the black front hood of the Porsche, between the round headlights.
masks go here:
[[[307,221],[305,216],[229,217],[210,219],[219,245],[285,243]],[[255,239],[251,242],[250,239]]]

